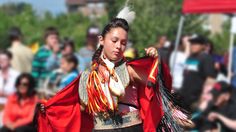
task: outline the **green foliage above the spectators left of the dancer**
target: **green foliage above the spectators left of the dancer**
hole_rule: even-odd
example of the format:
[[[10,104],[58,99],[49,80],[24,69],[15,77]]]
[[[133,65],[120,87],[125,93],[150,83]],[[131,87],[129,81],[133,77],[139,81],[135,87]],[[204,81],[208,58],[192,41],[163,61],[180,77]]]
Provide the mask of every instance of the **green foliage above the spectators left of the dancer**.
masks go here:
[[[9,46],[7,33],[12,26],[21,28],[26,44],[35,42],[43,44],[44,29],[48,26],[54,26],[58,28],[61,38],[72,38],[75,40],[77,47],[81,47],[85,42],[87,28],[91,25],[89,18],[79,13],[52,16],[52,14],[46,12],[38,16],[31,5],[24,3],[11,3],[1,6],[0,18],[0,48]]]

